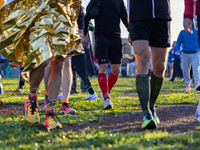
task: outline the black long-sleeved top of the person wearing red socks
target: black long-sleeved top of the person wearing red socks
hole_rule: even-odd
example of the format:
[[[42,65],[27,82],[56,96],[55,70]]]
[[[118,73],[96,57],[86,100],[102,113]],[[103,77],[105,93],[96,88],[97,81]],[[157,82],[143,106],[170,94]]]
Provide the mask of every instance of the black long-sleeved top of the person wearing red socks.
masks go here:
[[[91,0],[87,6],[84,35],[88,33],[89,12],[96,4],[97,0]],[[100,14],[100,17],[95,19],[95,37],[121,38],[120,18],[128,28],[127,12],[123,0],[101,0]]]

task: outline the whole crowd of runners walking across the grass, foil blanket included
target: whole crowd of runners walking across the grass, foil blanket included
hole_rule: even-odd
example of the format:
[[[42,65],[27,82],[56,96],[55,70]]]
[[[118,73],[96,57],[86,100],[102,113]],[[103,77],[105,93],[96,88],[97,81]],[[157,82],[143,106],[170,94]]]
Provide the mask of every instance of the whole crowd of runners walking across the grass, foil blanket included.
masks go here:
[[[0,9],[0,14],[2,14],[0,18],[2,21],[0,50],[4,52],[2,55],[22,65],[24,67],[22,74],[29,72],[30,94],[24,103],[27,121],[32,124],[40,122],[37,91],[43,79],[45,84],[44,109],[46,110],[43,125],[49,129],[62,129],[62,125],[55,115],[58,98],[62,100],[60,113],[76,114],[76,110],[70,108],[68,102],[71,87],[76,91],[76,88],[73,89],[72,86],[72,70],[78,73],[89,93],[83,100],[98,98],[90,82],[90,77],[94,74],[94,60],[88,35],[89,30],[93,27],[91,19],[95,21],[95,58],[98,63],[100,97],[104,101],[103,109],[114,107],[110,93],[121,70],[123,44],[120,20],[122,20],[127,28],[127,34],[129,33],[129,42],[134,49],[134,58],[132,59],[137,64],[136,88],[143,112],[141,127],[154,129],[158,126],[160,120],[155,111],[155,103],[167,68],[168,47],[170,47],[170,0],[152,0],[151,2],[127,0],[127,8],[123,0],[91,0],[85,14],[81,0],[31,1],[32,5],[28,5],[26,8],[20,7],[30,1],[7,0]],[[72,3],[74,4],[72,5]],[[196,12],[200,14],[200,0],[196,4]],[[35,6],[34,9],[32,6]],[[189,89],[189,71],[192,64],[196,90],[199,83],[197,75],[199,56],[197,58],[197,54],[198,39],[200,38],[198,38],[198,31],[192,22],[193,1],[185,0],[185,6],[185,30],[180,32],[176,46],[174,43],[173,50],[170,52],[171,55],[175,54],[174,65],[170,65],[171,68],[172,66],[174,68],[173,74],[170,73],[172,75],[170,81],[174,81],[178,70],[175,64],[179,64],[180,68],[181,61],[186,89]],[[59,10],[55,8],[59,8]],[[60,11],[62,9],[63,11]],[[21,13],[22,11],[25,14]],[[13,15],[13,13],[17,14]],[[28,17],[27,14],[33,16]],[[18,21],[11,22],[10,20],[16,20],[16,16]],[[8,26],[9,21],[11,24]],[[200,25],[199,15],[197,21]],[[13,37],[7,34],[9,31],[13,32]],[[11,40],[11,38],[13,39]],[[192,42],[191,39],[195,42]],[[183,45],[182,53],[180,52],[181,45]],[[85,54],[83,54],[83,50]],[[17,55],[13,55],[14,53]],[[10,57],[11,55],[15,57]],[[126,63],[126,60],[124,61]],[[107,75],[109,66],[110,73]],[[150,66],[153,67],[149,80]],[[74,78],[76,80],[75,75]],[[59,95],[61,86],[62,94]]]

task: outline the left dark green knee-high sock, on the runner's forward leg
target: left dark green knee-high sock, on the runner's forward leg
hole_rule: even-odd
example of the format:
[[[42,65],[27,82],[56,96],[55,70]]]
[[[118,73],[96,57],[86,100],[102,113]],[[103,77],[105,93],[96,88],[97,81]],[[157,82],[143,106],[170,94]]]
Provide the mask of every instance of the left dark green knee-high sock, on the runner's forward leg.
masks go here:
[[[137,75],[136,77],[136,87],[138,92],[138,97],[140,99],[140,104],[142,106],[143,115],[145,116],[149,113],[149,77],[148,75]]]

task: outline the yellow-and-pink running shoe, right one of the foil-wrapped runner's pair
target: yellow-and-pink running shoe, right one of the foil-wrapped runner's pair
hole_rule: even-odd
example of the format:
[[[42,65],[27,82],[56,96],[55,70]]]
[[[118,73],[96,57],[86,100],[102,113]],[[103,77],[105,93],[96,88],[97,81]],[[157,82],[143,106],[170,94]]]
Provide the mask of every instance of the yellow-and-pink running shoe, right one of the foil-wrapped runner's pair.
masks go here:
[[[57,119],[58,117],[55,114],[48,113],[43,123],[44,127],[49,129],[62,129],[62,124],[60,124]]]

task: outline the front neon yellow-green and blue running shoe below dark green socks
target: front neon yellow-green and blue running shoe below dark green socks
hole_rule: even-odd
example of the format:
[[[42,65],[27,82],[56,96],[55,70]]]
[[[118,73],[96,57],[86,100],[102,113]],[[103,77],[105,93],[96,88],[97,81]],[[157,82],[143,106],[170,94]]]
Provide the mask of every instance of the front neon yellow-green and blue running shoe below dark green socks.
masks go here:
[[[143,118],[142,129],[155,129],[157,127],[157,123],[152,119],[153,117],[150,113],[147,113]]]

